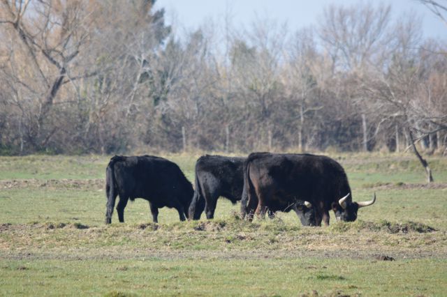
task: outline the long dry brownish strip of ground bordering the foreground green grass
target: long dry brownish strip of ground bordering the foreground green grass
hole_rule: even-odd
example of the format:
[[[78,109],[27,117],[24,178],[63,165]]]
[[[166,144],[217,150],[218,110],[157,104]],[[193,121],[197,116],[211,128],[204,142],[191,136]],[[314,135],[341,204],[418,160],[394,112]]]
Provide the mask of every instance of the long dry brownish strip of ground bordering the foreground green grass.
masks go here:
[[[445,252],[434,252],[429,250],[383,250],[381,254],[372,254],[370,250],[320,250],[299,248],[295,250],[268,251],[261,249],[254,250],[159,250],[156,248],[126,248],[103,247],[98,248],[65,248],[64,250],[34,250],[7,252],[0,249],[0,257],[3,259],[64,259],[64,260],[88,260],[88,259],[296,259],[296,258],[317,258],[317,259],[369,259],[373,261],[393,261],[392,259],[446,259]],[[386,254],[386,256],[385,256]],[[382,256],[388,258],[381,258]],[[387,260],[388,259],[388,260]],[[314,268],[314,267],[309,267]],[[318,268],[318,267],[317,267]],[[317,269],[315,268],[315,269]],[[325,268],[325,267],[323,267]],[[319,268],[318,268],[319,269]]]

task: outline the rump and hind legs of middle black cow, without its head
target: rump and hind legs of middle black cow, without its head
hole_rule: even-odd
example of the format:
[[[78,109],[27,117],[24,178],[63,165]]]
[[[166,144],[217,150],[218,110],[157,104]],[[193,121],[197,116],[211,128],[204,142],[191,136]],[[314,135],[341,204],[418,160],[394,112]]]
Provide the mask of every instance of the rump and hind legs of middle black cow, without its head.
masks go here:
[[[222,155],[203,155],[198,158],[196,192],[189,206],[189,218],[199,220],[204,209],[208,219],[214,218],[219,197],[225,197],[233,204],[240,201],[244,188],[244,160]]]

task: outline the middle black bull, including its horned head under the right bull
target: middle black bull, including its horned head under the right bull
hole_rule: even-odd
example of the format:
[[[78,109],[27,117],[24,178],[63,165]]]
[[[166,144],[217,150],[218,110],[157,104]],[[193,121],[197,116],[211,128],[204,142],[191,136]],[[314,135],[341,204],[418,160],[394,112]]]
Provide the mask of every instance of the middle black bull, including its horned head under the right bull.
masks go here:
[[[214,218],[214,211],[219,197],[226,197],[233,204],[247,201],[244,191],[244,162],[247,158],[226,157],[221,155],[203,155],[196,162],[196,191],[194,192],[189,218],[200,219],[205,209],[208,219]],[[295,211],[303,225],[314,225],[314,211],[305,201],[293,204],[271,204],[269,215],[276,211]]]

